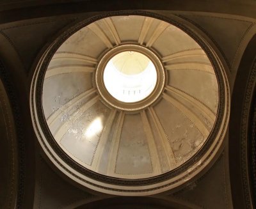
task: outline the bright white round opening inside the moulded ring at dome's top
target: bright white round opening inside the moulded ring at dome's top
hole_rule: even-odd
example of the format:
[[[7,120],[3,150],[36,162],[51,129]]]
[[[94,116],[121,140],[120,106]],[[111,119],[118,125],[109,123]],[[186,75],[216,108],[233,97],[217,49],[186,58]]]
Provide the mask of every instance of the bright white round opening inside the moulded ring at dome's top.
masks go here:
[[[120,52],[108,61],[103,80],[106,89],[116,100],[138,102],[154,90],[156,67],[140,52]]]

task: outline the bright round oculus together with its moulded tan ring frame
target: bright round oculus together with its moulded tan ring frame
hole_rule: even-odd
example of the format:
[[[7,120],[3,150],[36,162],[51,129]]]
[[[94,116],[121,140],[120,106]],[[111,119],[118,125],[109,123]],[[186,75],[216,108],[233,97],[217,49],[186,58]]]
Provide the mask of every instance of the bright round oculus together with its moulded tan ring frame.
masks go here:
[[[166,77],[163,63],[152,50],[122,44],[100,59],[95,82],[106,103],[134,112],[154,103],[163,92]]]

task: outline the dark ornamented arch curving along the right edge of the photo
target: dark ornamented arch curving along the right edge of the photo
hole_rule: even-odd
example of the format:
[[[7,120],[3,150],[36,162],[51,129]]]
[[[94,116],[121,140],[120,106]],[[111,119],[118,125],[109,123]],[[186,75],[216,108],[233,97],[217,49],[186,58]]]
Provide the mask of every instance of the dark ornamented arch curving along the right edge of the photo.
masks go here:
[[[250,146],[248,125],[255,82],[256,35],[244,51],[232,93],[228,145],[229,167],[230,171],[233,171],[230,173],[230,182],[235,208],[252,208],[252,189],[248,169],[248,146]]]

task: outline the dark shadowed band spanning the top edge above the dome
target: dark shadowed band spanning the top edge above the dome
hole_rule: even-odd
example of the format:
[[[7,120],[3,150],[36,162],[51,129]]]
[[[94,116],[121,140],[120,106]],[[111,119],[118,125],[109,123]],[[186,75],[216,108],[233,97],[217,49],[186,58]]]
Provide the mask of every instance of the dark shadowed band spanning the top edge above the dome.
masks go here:
[[[149,0],[124,0],[109,1],[11,1],[1,3],[1,22],[12,22],[16,20],[31,19],[37,17],[49,17],[65,15],[70,13],[111,11],[111,10],[170,10],[174,12],[211,12],[229,15],[240,15],[243,17],[256,18],[255,3],[253,1],[200,1],[175,0],[159,1]],[[33,8],[33,9],[31,9]],[[33,13],[31,13],[33,10]]]

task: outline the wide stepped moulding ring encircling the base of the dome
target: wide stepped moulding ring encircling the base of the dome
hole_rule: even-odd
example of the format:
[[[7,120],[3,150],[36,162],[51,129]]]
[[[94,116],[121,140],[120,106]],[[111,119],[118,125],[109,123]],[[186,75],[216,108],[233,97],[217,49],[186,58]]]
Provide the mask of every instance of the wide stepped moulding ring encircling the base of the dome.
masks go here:
[[[211,60],[218,81],[220,102],[217,118],[214,128],[211,131],[207,141],[205,141],[204,146],[202,146],[202,148],[195,154],[195,156],[193,156],[192,159],[189,159],[187,162],[182,164],[182,166],[152,178],[125,180],[104,176],[80,166],[77,164],[77,162],[70,159],[70,157],[68,157],[67,154],[61,150],[56,141],[54,141],[54,137],[52,136],[51,131],[47,126],[47,122],[45,121],[44,111],[42,110],[42,86],[44,82],[44,75],[45,71],[47,70],[47,66],[49,65],[49,62],[51,61],[51,58],[56,50],[63,42],[65,42],[65,40],[67,40],[68,37],[76,33],[76,31],[82,27],[87,26],[96,20],[113,15],[144,15],[163,20],[179,27],[189,36],[191,36],[191,38],[193,38],[200,45],[200,47],[202,47],[208,58]],[[159,90],[159,92],[161,92],[161,90]],[[154,97],[152,102],[156,100],[155,98],[157,97]],[[193,27],[193,29],[191,29],[191,27],[186,26],[186,24],[180,23],[179,19],[175,19],[175,17],[168,18],[152,12],[125,11],[109,12],[104,15],[99,15],[84,20],[83,22],[80,22],[76,26],[65,31],[65,33],[60,35],[54,42],[52,42],[49,49],[44,52],[44,55],[36,67],[33,82],[31,84],[30,105],[33,127],[38,137],[38,141],[41,144],[42,149],[45,151],[47,157],[49,157],[51,162],[58,167],[62,173],[80,185],[99,192],[122,196],[145,196],[164,192],[182,185],[191,178],[195,177],[196,174],[200,173],[200,171],[205,169],[211,160],[214,159],[216,153],[218,153],[220,149],[227,130],[230,109],[230,95],[225,69],[221,64],[220,58],[216,52],[214,52],[211,45],[205,42],[204,35],[196,33],[196,28]],[[143,107],[140,106],[137,108]],[[127,110],[129,110],[129,108]]]

